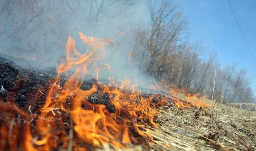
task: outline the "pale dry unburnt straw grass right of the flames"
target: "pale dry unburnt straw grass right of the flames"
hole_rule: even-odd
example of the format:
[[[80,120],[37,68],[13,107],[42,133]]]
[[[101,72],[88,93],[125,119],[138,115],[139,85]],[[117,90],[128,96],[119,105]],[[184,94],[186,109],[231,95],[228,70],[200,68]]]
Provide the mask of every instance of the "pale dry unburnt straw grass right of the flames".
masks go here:
[[[195,117],[196,111],[197,109],[178,108],[163,111],[158,117],[160,126],[145,131],[154,138],[152,141],[155,144],[152,149],[253,151],[251,147],[256,147],[255,111],[241,110],[218,103],[215,109],[207,109],[206,112],[211,117],[209,115]]]

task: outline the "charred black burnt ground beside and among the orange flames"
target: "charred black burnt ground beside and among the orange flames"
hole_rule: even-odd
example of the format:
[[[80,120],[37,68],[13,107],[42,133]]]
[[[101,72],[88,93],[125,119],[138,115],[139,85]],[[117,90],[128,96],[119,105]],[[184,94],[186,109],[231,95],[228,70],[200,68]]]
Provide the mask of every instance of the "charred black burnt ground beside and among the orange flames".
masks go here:
[[[15,65],[14,62],[0,57],[0,98],[3,101],[12,100],[10,97],[15,98],[16,104],[21,109],[25,106],[34,106],[35,102],[38,103],[38,107],[42,107],[46,99],[50,82],[55,80],[55,77],[51,76],[52,74],[53,71],[45,71],[41,73],[32,69],[24,69]],[[108,82],[105,79],[102,80]],[[63,86],[65,82],[66,79],[63,77],[60,80],[60,85]],[[97,82],[94,79],[86,80],[83,82],[81,89],[89,90],[91,89],[92,84],[97,84]],[[104,95],[100,92],[101,88],[99,88],[97,93],[94,93],[90,98],[87,98],[87,100],[91,103],[106,105],[106,108],[111,113],[115,113],[114,106],[109,102],[109,95]],[[9,94],[8,98],[7,94]],[[149,98],[152,94],[143,93],[141,96]],[[158,98],[153,98],[153,103],[157,103],[159,99],[164,97],[163,95],[159,96]],[[38,100],[40,100],[40,102],[38,102]],[[169,103],[174,105],[171,100],[169,100]]]

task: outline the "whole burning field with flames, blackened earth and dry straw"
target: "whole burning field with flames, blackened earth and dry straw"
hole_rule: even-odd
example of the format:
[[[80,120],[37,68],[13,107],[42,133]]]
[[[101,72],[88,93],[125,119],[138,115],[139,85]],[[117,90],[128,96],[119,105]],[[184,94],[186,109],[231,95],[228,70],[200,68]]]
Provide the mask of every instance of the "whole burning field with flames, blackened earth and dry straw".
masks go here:
[[[66,59],[56,77],[0,64],[1,151],[228,151],[255,146],[256,119],[252,115],[227,115],[221,106],[207,109],[210,103],[196,95],[182,100],[172,91],[142,94],[129,79],[122,84],[99,82],[99,71],[110,70],[110,65],[97,61],[103,60],[106,46],[115,44],[80,36],[87,44],[86,52],[75,50],[69,37]],[[83,80],[88,73],[95,73],[95,79]]]

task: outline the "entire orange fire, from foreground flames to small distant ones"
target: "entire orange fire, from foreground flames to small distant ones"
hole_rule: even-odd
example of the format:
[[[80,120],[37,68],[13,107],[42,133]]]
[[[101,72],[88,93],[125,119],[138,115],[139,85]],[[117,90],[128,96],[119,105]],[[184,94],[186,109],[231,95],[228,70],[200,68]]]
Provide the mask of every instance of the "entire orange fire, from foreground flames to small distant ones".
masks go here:
[[[57,68],[57,77],[50,81],[45,104],[32,113],[19,109],[15,101],[0,100],[0,151],[17,150],[90,150],[105,143],[117,148],[128,148],[132,144],[142,144],[147,148],[151,136],[143,132],[143,127],[158,126],[155,115],[159,107],[172,104],[163,95],[143,95],[136,91],[125,79],[121,85],[110,77],[109,85],[99,82],[99,71],[110,70],[110,65],[101,63],[106,56],[106,47],[114,47],[109,39],[85,36],[80,33],[87,45],[84,53],[75,49],[74,40],[69,37],[66,44],[66,59]],[[129,52],[131,55],[132,51]],[[88,74],[95,74],[95,83],[84,87]],[[62,76],[67,80],[61,81]],[[42,93],[42,92],[41,92]],[[38,93],[38,95],[42,95]],[[198,106],[196,96],[185,100]],[[175,100],[178,107],[186,104]],[[205,104],[201,104],[206,106]],[[18,116],[18,118],[17,118]],[[11,126],[11,127],[10,127]],[[23,137],[18,137],[18,134]],[[149,132],[148,132],[149,133]]]

